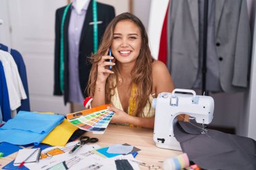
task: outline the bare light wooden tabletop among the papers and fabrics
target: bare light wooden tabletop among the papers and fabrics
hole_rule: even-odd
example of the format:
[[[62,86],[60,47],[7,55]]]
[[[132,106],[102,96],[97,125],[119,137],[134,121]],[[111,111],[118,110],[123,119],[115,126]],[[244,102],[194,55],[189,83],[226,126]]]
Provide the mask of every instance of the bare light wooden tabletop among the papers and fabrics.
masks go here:
[[[148,128],[131,128],[129,126],[117,126],[110,124],[104,134],[92,134],[86,132],[86,136],[96,137],[99,141],[96,143],[102,147],[113,144],[131,144],[141,149],[136,159],[150,165],[162,166],[162,161],[182,154],[181,151],[173,151],[156,147],[153,140],[153,130]],[[15,159],[17,153],[0,159],[0,169]],[[141,169],[146,167],[139,166]]]

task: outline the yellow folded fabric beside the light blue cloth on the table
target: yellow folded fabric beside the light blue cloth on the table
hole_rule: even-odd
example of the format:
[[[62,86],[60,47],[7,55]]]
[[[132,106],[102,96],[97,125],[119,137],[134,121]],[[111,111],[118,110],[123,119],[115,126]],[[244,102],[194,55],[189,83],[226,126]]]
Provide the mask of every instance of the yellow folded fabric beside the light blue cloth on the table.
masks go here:
[[[54,114],[53,112],[44,112],[43,114]],[[56,126],[41,143],[50,144],[52,146],[65,146],[67,141],[72,136],[73,132],[77,130],[67,119],[64,119],[61,124]]]

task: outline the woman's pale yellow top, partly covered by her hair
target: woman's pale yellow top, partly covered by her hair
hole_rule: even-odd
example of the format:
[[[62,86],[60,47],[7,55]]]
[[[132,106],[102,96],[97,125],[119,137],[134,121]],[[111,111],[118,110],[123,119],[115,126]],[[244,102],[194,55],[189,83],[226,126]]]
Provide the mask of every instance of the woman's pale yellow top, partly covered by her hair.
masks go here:
[[[145,108],[143,109],[143,114],[139,114],[139,117],[141,118],[152,118],[155,116],[155,109],[151,107],[152,105],[152,100],[153,100],[153,96],[150,95],[149,96],[149,100],[148,103],[146,104]],[[113,106],[115,106],[115,108],[118,108],[119,110],[123,110],[123,107],[121,105],[121,101],[119,99],[119,94],[117,91],[117,87],[115,88],[115,95],[113,95],[113,97],[111,98],[112,104]],[[129,111],[129,108],[128,108]],[[127,113],[129,114],[129,113]]]

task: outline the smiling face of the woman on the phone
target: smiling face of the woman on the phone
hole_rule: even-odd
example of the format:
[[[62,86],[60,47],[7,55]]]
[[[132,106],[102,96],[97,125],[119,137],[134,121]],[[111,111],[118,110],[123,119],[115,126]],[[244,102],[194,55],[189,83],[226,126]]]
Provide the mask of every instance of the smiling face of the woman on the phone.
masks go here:
[[[141,32],[131,20],[118,22],[111,45],[113,56],[121,63],[135,64],[141,49]]]

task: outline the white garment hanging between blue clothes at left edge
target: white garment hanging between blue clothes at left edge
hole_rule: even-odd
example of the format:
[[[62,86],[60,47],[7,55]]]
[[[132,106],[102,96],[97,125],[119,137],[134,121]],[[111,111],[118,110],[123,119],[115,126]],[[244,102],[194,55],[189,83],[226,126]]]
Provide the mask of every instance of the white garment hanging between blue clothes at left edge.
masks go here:
[[[13,57],[8,52],[0,50],[0,60],[5,71],[5,79],[9,94],[9,105],[11,111],[16,110],[21,105],[21,99],[26,99],[26,93],[20,79],[17,65]]]

